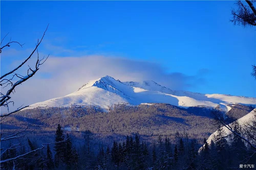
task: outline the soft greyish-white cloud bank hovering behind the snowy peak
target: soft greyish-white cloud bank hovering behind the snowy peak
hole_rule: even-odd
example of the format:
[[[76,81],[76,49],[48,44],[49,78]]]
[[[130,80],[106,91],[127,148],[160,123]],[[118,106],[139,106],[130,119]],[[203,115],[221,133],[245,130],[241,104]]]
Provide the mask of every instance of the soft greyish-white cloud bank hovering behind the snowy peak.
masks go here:
[[[35,76],[16,88],[12,100],[15,101],[17,108],[22,104],[33,104],[65,96],[89,80],[99,79],[105,75],[120,81],[153,80],[171,89],[185,90],[204,82],[198,74],[196,76],[186,76],[182,73],[168,74],[158,64],[118,57],[50,56]]]

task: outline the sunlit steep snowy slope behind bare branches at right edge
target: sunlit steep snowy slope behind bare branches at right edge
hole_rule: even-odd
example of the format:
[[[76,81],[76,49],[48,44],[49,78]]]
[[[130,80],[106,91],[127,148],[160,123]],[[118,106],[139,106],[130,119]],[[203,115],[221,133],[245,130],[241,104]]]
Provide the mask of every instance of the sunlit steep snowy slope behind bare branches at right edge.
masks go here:
[[[256,109],[252,110],[250,113],[248,113],[247,115],[241,117],[240,119],[237,120],[238,124],[241,125],[242,127],[244,127],[244,124],[247,124],[249,120],[251,120],[253,118],[253,116],[256,113]],[[222,127],[223,130],[226,133],[226,136],[231,134],[231,131],[228,130],[227,127],[223,126]],[[207,139],[207,143],[211,143],[211,141],[214,141],[214,137],[217,136],[218,132],[216,130],[216,132],[212,133],[209,138]],[[202,147],[201,147],[202,148]],[[201,148],[199,149],[199,151],[201,150]]]

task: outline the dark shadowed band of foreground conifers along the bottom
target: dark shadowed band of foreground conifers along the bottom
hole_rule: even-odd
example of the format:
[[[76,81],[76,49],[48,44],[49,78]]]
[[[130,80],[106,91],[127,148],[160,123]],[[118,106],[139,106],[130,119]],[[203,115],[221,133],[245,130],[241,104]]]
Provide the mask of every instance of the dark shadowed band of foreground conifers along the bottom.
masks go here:
[[[90,140],[95,140],[90,134]],[[64,137],[65,136],[65,137]],[[74,137],[64,134],[61,125],[58,125],[55,140],[67,138],[62,145],[55,143],[54,147],[38,150],[24,156],[24,159],[15,160],[16,169],[237,169],[240,164],[253,164],[246,158],[250,149],[234,135],[226,136],[222,127],[210,143],[204,140],[201,145],[195,139],[188,139],[187,134],[179,135],[175,143],[168,137],[159,136],[152,145],[141,140],[138,134],[126,137],[124,141],[113,139],[112,146],[92,146],[85,138],[82,147],[74,146]],[[87,136],[88,137],[88,136]],[[8,159],[21,153],[29,152],[37,147],[37,143],[28,139],[29,146],[6,151],[1,158]],[[89,155],[89,156],[88,156]],[[248,163],[247,163],[248,162]],[[254,165],[255,166],[255,165]],[[5,162],[1,169],[12,169],[13,164]]]

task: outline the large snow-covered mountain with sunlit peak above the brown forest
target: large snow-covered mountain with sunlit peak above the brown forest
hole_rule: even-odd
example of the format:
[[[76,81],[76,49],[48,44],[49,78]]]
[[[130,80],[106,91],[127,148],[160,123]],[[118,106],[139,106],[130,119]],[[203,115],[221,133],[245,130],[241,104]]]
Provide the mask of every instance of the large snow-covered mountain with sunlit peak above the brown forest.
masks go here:
[[[68,107],[71,105],[92,105],[108,108],[116,103],[138,105],[141,103],[168,103],[175,106],[207,106],[229,110],[230,104],[256,104],[256,98],[223,94],[200,94],[189,91],[173,91],[154,81],[121,82],[104,76],[91,80],[77,91],[58,98],[30,105],[35,107]]]

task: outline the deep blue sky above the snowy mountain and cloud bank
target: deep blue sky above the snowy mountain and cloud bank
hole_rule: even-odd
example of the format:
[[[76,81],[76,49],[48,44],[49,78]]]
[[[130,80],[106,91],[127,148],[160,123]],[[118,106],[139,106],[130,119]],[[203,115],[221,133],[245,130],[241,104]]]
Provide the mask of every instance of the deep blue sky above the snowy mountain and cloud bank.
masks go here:
[[[229,22],[235,1],[0,3],[1,39],[9,32],[8,38],[25,43],[23,48],[13,45],[2,53],[1,75],[26,57],[49,23],[39,51],[50,53],[58,62],[67,60],[61,67],[68,69],[72,57],[79,62],[79,58],[97,55],[103,59],[93,60],[91,65],[104,70],[104,63],[98,66],[97,62],[112,61],[115,73],[110,68],[104,70],[104,74],[114,74],[114,78],[123,81],[128,77],[134,80],[145,77],[175,89],[256,96],[255,80],[250,75],[251,65],[255,64],[255,28],[234,26]],[[127,72],[118,74],[119,70]],[[148,77],[144,71],[155,72],[155,75]],[[42,70],[35,81],[47,81],[54,74]],[[83,73],[77,76],[80,74]],[[101,74],[93,71],[90,78],[99,78]],[[140,76],[136,78],[136,75]],[[164,82],[165,79],[168,81]],[[66,87],[66,91],[55,95],[68,94],[79,86],[75,83],[71,89]],[[59,96],[35,100],[50,97]]]

